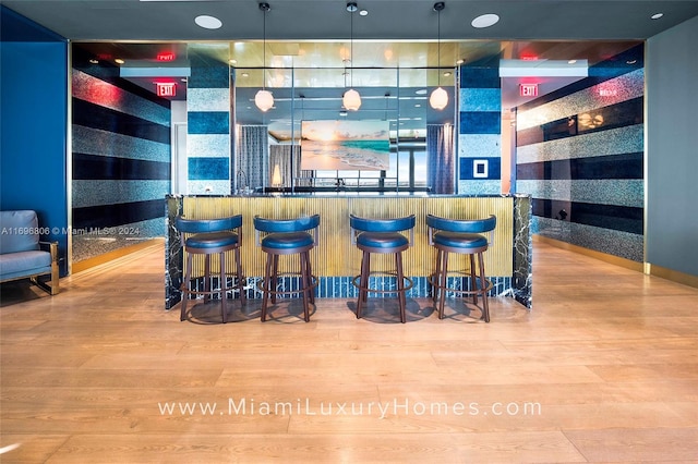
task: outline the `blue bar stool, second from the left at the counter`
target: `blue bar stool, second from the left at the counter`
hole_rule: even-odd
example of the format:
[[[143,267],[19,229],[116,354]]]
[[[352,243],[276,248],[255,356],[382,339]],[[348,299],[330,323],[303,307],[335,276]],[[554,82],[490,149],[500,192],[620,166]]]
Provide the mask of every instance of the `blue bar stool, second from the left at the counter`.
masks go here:
[[[262,322],[266,320],[267,302],[276,303],[277,295],[303,294],[303,318],[310,321],[310,305],[315,303],[315,288],[317,278],[313,276],[310,262],[310,251],[317,245],[317,227],[320,215],[296,219],[267,219],[254,217],[255,242],[267,254],[264,279],[257,282],[262,291]],[[312,233],[309,232],[312,230]],[[300,269],[298,271],[279,272],[279,256],[299,255]],[[278,290],[279,276],[299,276],[300,282],[296,290]]]

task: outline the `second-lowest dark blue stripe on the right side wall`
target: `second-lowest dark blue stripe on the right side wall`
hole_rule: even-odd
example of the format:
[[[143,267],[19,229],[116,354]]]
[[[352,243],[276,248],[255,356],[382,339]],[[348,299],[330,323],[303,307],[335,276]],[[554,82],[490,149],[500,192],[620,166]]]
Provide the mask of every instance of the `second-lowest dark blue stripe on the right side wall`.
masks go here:
[[[643,179],[643,154],[622,154],[517,164],[516,179]]]

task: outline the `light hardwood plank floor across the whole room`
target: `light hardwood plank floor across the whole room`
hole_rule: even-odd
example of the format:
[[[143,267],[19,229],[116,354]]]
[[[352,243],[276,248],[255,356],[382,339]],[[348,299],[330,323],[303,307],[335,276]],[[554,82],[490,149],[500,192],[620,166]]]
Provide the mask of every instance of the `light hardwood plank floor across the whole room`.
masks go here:
[[[489,325],[429,300],[180,322],[163,247],[5,285],[0,461],[697,462],[698,290],[539,242],[533,271]]]

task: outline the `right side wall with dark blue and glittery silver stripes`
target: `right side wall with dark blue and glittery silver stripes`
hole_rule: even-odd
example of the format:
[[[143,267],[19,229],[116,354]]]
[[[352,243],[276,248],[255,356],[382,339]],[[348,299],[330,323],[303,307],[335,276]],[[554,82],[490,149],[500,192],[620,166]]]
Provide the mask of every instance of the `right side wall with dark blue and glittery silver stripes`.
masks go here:
[[[517,192],[532,196],[532,232],[643,260],[641,47],[590,77],[518,109]],[[638,68],[639,66],[639,68]]]

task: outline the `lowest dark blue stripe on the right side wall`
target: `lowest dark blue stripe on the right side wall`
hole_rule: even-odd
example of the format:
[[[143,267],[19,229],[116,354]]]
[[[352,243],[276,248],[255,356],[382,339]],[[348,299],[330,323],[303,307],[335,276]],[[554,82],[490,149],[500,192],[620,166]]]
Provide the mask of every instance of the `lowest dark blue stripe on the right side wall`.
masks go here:
[[[533,216],[538,217],[559,219],[638,235],[643,233],[642,208],[540,198],[533,198],[531,206]]]

